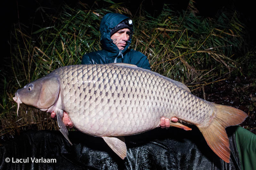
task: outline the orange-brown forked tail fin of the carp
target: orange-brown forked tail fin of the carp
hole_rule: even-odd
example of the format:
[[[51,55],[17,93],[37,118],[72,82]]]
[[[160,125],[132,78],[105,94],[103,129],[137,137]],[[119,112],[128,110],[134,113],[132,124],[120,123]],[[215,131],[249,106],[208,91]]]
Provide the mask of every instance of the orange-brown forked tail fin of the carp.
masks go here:
[[[230,149],[229,140],[225,128],[235,126],[248,117],[242,110],[230,106],[213,104],[216,108],[216,117],[207,127],[198,129],[202,132],[207,144],[221,159],[229,163]]]

